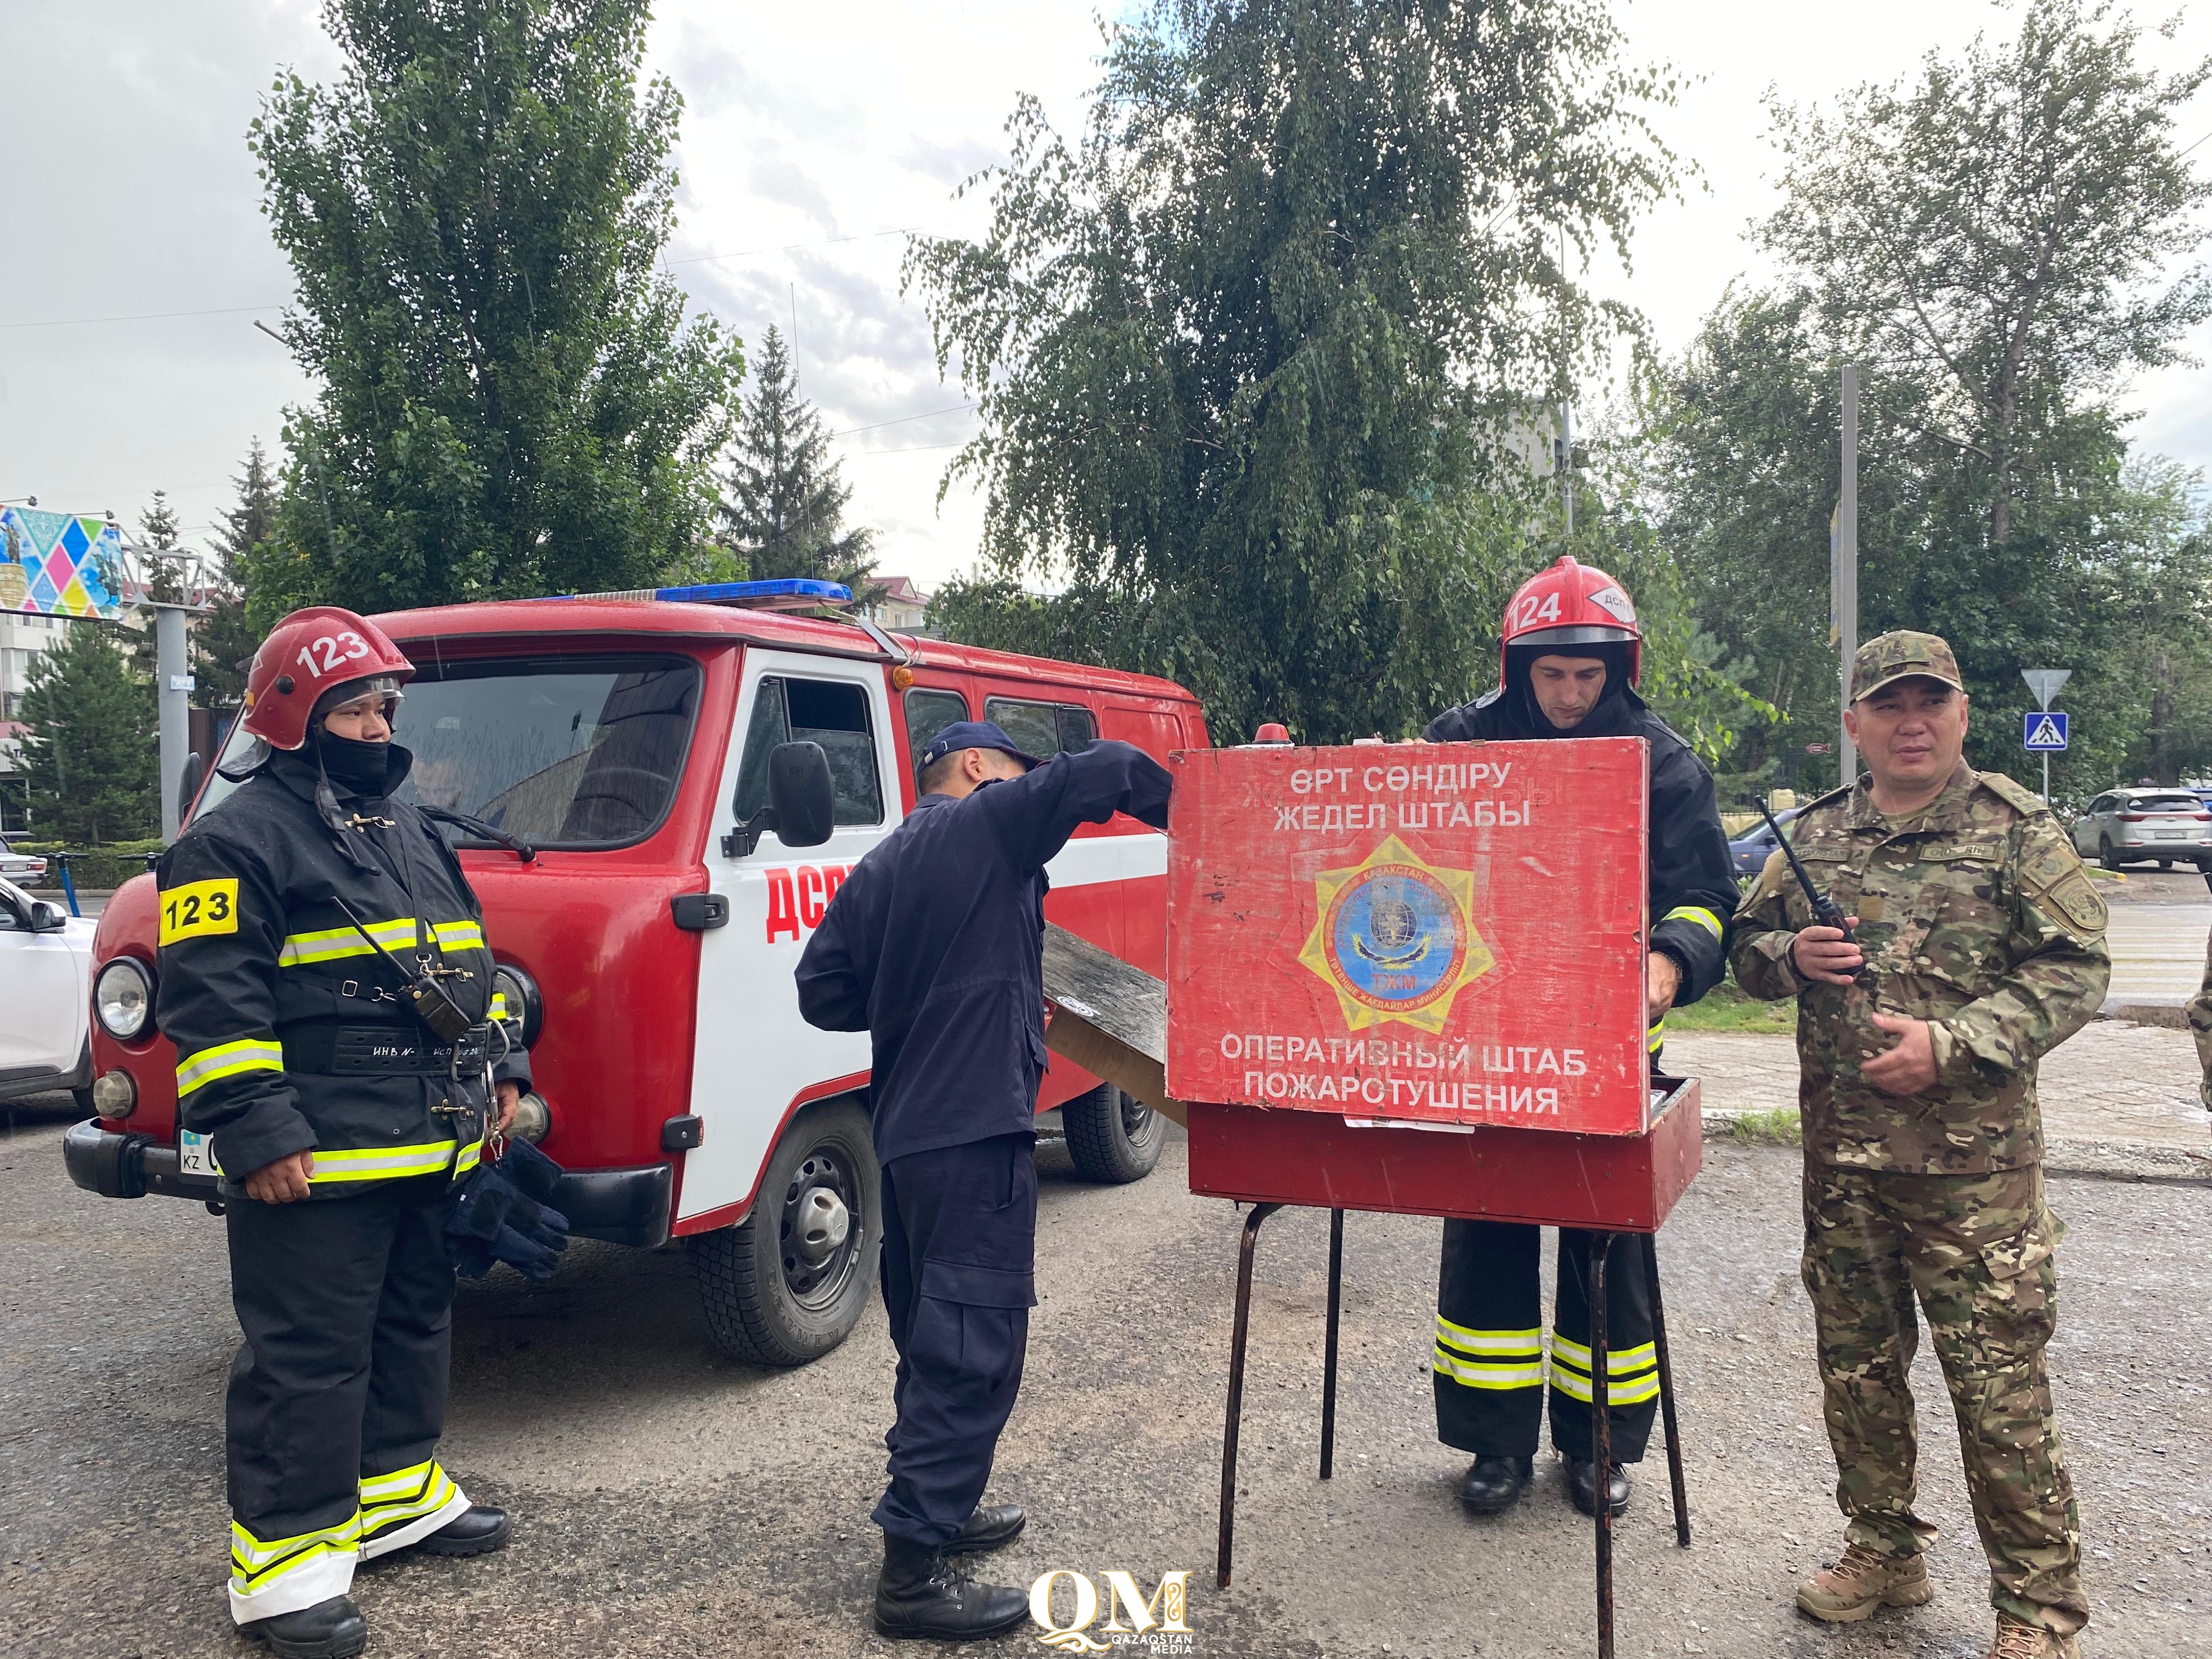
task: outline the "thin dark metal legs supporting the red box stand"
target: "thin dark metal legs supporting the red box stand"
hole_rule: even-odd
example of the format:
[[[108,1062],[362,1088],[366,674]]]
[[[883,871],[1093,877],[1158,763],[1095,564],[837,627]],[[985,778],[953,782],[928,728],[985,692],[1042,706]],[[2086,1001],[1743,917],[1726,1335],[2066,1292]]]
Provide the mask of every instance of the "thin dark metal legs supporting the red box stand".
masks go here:
[[[1243,1363],[1252,1329],[1252,1254],[1259,1248],[1259,1225],[1281,1203],[1254,1203],[1245,1217],[1243,1243],[1237,1252],[1237,1318],[1230,1334],[1230,1405],[1221,1431],[1221,1544],[1214,1559],[1214,1584],[1230,1586],[1230,1551],[1237,1535],[1237,1431],[1243,1427]],[[1630,1234],[1632,1239],[1637,1234]],[[1599,1232],[1590,1239],[1590,1440],[1597,1453],[1597,1655],[1613,1659],[1613,1504],[1606,1502],[1613,1480],[1613,1396],[1606,1356],[1606,1270],[1621,1234]],[[1659,1418],[1666,1425],[1666,1467],[1674,1498],[1674,1542],[1690,1546],[1690,1495],[1681,1471],[1681,1427],[1674,1418],[1674,1367],[1666,1343],[1666,1307],[1659,1301],[1659,1248],[1641,1234],[1641,1263],[1624,1263],[1624,1272],[1641,1267],[1652,1296],[1652,1349],[1659,1360]],[[1329,1210],[1329,1325],[1323,1345],[1321,1378],[1321,1478],[1329,1480],[1336,1462],[1336,1347],[1343,1316],[1345,1279],[1345,1212]]]

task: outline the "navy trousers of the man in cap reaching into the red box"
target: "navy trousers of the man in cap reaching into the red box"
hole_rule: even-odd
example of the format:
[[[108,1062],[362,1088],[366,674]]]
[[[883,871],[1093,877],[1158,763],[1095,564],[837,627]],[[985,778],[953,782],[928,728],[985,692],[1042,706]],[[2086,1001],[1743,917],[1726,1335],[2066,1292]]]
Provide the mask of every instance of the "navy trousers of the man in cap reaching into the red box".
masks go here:
[[[1022,1389],[1037,1303],[1035,1135],[909,1152],[883,1166],[883,1301],[898,1347],[891,1484],[876,1524],[945,1544],[982,1502]]]

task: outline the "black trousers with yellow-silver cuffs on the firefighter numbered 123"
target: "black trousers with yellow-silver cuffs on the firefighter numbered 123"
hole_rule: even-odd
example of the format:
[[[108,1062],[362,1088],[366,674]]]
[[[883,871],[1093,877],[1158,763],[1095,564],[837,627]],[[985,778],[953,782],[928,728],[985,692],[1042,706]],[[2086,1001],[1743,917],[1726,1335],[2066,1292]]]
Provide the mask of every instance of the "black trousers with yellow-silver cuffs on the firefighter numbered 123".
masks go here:
[[[434,1460],[453,1332],[449,1192],[440,1172],[228,1201],[246,1334],[226,1407],[241,1621],[343,1595],[356,1555],[467,1509]]]

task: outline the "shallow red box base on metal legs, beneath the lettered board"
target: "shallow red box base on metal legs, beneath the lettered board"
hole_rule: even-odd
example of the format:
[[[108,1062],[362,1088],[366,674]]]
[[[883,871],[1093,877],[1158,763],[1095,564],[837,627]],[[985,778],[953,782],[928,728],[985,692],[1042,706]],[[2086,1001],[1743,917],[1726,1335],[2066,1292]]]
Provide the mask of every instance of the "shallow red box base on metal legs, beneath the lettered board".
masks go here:
[[[1323,1113],[1190,1102],[1190,1190],[1241,1203],[1657,1232],[1699,1170],[1699,1088],[1648,1135],[1354,1128]]]

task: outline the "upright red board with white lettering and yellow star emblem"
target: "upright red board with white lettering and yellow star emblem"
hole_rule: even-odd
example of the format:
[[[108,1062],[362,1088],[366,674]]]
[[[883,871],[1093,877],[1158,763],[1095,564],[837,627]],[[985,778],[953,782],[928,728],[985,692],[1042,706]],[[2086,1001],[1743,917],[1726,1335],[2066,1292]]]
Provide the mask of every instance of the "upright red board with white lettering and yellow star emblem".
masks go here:
[[[1644,1135],[1641,739],[1172,763],[1172,1097],[1345,1135],[1343,1117]]]

